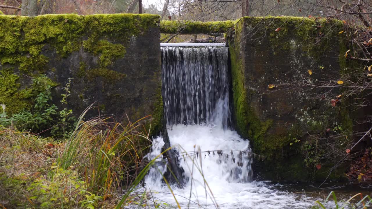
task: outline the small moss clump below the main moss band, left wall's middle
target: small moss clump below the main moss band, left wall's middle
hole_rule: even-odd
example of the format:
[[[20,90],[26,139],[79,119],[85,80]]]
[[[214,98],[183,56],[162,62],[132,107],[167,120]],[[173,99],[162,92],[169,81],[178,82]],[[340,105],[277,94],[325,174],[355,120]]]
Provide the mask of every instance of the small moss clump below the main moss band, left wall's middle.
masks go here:
[[[98,64],[102,68],[112,65],[113,61],[124,57],[126,53],[125,47],[121,44],[112,44],[106,40],[97,41],[92,37],[84,41],[83,46],[94,55],[100,55]]]

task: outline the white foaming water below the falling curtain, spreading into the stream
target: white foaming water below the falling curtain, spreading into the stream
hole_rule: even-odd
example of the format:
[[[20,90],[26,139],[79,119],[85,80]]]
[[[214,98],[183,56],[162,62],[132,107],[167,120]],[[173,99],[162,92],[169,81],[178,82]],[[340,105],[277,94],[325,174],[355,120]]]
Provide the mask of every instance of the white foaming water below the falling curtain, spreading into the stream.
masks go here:
[[[243,176],[248,176],[245,166],[243,166],[243,172],[241,172],[243,175],[232,179],[228,171],[237,168],[237,155],[234,154],[235,163],[231,161],[231,156],[226,163],[223,161],[226,157],[219,156],[217,150],[222,149],[224,155],[231,155],[230,149],[250,151],[249,142],[242,139],[235,131],[224,130],[218,126],[177,125],[168,129],[168,134],[171,145],[174,145],[180,151],[180,165],[185,170],[185,177],[189,178],[182,188],[171,186],[182,209],[297,209],[309,208],[314,203],[314,199],[299,199],[297,195],[289,192],[272,189],[272,186],[268,186],[264,182],[244,181]],[[155,144],[158,143],[157,146],[161,145],[161,140],[162,138],[157,138]],[[196,156],[195,150],[198,150],[199,147],[202,152]],[[208,156],[208,152],[203,152],[208,150],[211,151],[211,156]],[[214,150],[215,155],[213,155],[212,150]],[[154,155],[160,154],[158,149],[154,151],[156,152]],[[185,156],[186,153],[188,156]],[[247,163],[247,160],[249,158],[244,163]],[[169,188],[165,183],[161,183],[162,177],[159,171],[164,172],[165,166],[150,169],[145,180],[146,191],[154,197],[155,202],[161,204],[164,208],[177,208],[176,200]],[[158,178],[155,178],[155,176]],[[203,179],[205,179],[205,184]],[[149,205],[149,208],[154,207],[154,203],[149,203]]]

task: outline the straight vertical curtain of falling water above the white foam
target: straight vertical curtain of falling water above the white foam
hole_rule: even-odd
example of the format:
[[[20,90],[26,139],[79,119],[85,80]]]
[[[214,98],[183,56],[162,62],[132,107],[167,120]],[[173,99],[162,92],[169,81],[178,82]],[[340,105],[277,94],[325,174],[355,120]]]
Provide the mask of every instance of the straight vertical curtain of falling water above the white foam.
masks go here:
[[[221,123],[226,128],[230,122],[228,48],[166,46],[161,54],[167,125]]]

